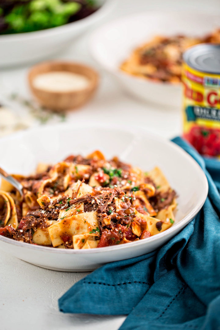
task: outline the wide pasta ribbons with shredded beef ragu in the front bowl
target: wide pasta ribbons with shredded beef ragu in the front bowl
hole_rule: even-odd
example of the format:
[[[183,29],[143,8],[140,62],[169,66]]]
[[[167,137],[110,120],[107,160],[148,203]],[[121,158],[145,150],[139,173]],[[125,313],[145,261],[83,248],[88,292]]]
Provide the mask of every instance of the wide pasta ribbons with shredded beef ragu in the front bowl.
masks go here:
[[[3,182],[0,235],[57,248],[101,248],[148,238],[174,222],[176,193],[158,168],[144,173],[95,151],[40,170],[15,175],[23,196],[13,187],[4,192]],[[7,196],[14,201],[13,220],[6,218]]]

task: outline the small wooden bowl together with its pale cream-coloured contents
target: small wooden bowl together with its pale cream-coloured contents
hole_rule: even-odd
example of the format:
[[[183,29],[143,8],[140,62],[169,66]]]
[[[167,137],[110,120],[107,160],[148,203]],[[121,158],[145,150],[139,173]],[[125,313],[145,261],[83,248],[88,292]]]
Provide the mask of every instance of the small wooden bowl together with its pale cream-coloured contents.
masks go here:
[[[99,76],[82,64],[51,61],[33,66],[28,82],[40,104],[54,111],[65,111],[82,106],[93,96]]]

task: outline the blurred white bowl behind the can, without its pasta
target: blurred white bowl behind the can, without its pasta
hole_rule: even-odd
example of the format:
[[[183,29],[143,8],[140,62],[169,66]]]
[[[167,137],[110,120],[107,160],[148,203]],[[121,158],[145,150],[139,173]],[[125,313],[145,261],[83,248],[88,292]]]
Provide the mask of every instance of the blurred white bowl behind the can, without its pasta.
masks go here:
[[[144,12],[117,18],[96,29],[90,38],[94,59],[112,73],[128,93],[165,106],[181,105],[181,84],[153,82],[129,75],[120,64],[155,35],[203,36],[219,27],[219,16],[198,12]]]

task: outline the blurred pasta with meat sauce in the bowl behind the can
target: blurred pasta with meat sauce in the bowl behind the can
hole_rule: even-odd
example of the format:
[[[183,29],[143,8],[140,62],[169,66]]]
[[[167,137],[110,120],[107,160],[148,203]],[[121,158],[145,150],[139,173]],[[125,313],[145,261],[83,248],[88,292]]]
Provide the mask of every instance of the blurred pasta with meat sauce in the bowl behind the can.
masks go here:
[[[155,36],[134,49],[120,69],[155,82],[180,83],[182,54],[187,48],[201,43],[219,44],[220,29],[200,38],[185,35]]]

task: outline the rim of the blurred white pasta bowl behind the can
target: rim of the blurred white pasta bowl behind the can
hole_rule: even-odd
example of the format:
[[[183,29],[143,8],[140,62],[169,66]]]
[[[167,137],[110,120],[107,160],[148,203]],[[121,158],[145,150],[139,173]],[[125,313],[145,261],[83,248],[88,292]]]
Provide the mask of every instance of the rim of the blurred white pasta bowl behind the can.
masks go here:
[[[140,17],[140,16],[149,16],[149,15],[188,15],[189,16],[189,12],[186,10],[183,10],[180,12],[178,11],[170,11],[170,10],[164,10],[162,11],[156,11],[156,10],[152,10],[152,11],[144,11],[142,13],[136,13],[136,14],[130,14],[130,15],[124,15],[122,17],[118,17],[115,18],[114,20],[111,20],[108,23],[105,23],[103,25],[101,25],[101,27],[96,28],[94,31],[91,32],[90,36],[89,36],[89,51],[93,57],[93,59],[99,64],[101,65],[107,72],[110,72],[111,74],[115,75],[115,76],[121,76],[121,77],[126,77],[127,79],[133,80],[133,81],[142,81],[144,83],[149,83],[149,84],[159,84],[160,86],[168,86],[169,87],[173,87],[175,89],[180,89],[181,88],[181,82],[180,83],[171,83],[171,82],[160,82],[160,81],[153,81],[151,79],[145,79],[144,77],[138,77],[138,76],[133,76],[132,74],[126,73],[123,70],[120,70],[119,67],[117,68],[113,68],[111,69],[108,65],[104,64],[102,60],[100,60],[100,57],[96,56],[97,51],[95,50],[95,44],[97,43],[97,35],[99,35],[100,31],[103,29],[108,29],[108,28],[112,28],[115,24],[117,24],[119,21],[121,22],[121,24],[124,22],[129,21],[130,19],[134,19],[135,17]],[[195,13],[191,13],[190,14],[193,16],[195,15]],[[213,13],[206,13],[204,11],[196,11],[196,16],[209,16],[209,17],[219,17],[216,14]],[[166,33],[164,33],[166,35]],[[196,35],[196,33],[195,33]],[[99,37],[98,37],[99,38]],[[166,87],[165,87],[166,88]]]

